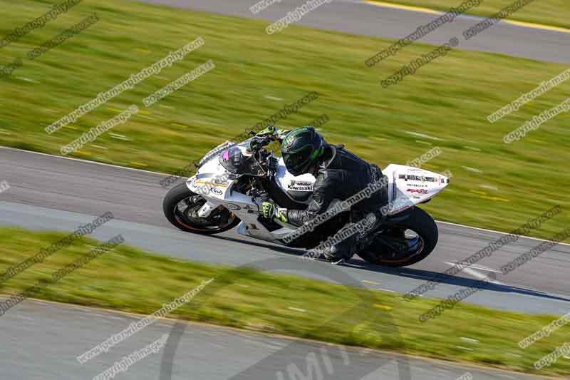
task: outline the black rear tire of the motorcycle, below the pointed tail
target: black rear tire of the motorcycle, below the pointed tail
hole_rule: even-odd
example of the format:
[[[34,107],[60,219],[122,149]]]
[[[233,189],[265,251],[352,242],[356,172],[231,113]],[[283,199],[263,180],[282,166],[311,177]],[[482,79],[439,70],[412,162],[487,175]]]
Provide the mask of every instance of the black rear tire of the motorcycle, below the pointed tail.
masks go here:
[[[421,239],[421,250],[409,257],[390,260],[388,257],[383,257],[383,252],[377,252],[378,245],[372,242],[366,250],[358,252],[358,256],[362,257],[366,262],[384,265],[386,267],[407,267],[408,265],[413,265],[416,262],[424,260],[437,245],[439,232],[437,231],[435,220],[433,220],[427,212],[418,207],[413,207],[410,216],[403,222],[399,222],[395,227],[415,232]]]

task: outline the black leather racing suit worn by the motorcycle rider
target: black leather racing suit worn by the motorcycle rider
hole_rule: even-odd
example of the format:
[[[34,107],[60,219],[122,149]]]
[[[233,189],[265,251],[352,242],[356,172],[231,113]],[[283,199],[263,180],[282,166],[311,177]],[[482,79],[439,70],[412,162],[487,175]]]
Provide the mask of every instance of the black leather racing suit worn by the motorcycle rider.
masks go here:
[[[287,210],[287,218],[292,225],[303,225],[316,215],[328,210],[333,200],[347,200],[366,188],[371,183],[378,182],[383,175],[378,166],[369,164],[353,153],[343,148],[343,145],[332,146],[326,150],[323,160],[318,167],[316,182],[311,203],[306,210]],[[369,198],[351,207],[350,221],[343,227],[348,228],[363,220],[373,212],[378,220],[382,217],[380,209],[388,204],[388,188],[374,192]],[[335,245],[330,252],[325,253],[329,258],[350,258],[356,252],[358,240],[366,231],[353,235]]]

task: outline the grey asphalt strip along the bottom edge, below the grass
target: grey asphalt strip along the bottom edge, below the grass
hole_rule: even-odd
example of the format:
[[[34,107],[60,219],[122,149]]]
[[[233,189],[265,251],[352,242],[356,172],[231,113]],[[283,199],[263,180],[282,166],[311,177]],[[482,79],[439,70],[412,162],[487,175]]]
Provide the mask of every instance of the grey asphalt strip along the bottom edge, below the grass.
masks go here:
[[[0,367],[2,379],[78,380],[93,379],[123,356],[169,334],[172,322],[156,322],[134,334],[86,364],[76,356],[128,327],[140,317],[83,307],[26,301],[1,317]],[[188,324],[180,337],[174,356],[172,377],[160,373],[162,351],[150,354],[130,366],[115,379],[133,380],[280,380],[278,371],[289,379],[286,368],[296,365],[307,374],[309,355],[315,355],[316,369],[296,379],[378,380],[378,379],[457,379],[469,371],[477,380],[537,380],[525,376],[476,366],[462,366],[425,359],[361,349],[299,342],[281,337],[239,332],[232,329]],[[324,363],[326,355],[329,363]],[[309,356],[310,357],[310,356]],[[406,361],[405,377],[398,374],[398,363]],[[16,365],[17,364],[17,365]],[[314,377],[310,377],[310,376]]]

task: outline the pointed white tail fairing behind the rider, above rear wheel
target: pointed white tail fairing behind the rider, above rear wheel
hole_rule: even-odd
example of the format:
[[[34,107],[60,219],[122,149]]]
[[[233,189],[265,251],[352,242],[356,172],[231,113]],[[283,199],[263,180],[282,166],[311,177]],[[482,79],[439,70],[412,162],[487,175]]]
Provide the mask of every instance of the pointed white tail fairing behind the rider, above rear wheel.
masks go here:
[[[449,178],[427,170],[405,165],[390,164],[383,175],[388,176],[388,215],[430,200],[449,185]]]

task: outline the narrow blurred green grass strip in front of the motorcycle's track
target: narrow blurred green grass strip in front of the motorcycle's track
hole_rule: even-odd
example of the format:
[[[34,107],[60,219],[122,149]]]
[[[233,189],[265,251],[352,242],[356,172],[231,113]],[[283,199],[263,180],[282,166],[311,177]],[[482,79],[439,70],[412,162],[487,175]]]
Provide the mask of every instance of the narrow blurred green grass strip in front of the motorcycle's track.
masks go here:
[[[64,236],[61,232],[1,228],[0,241],[4,244],[0,273]],[[537,373],[534,361],[563,344],[569,331],[568,326],[561,327],[523,350],[518,346],[521,339],[557,317],[457,304],[440,317],[420,324],[418,316],[439,300],[422,298],[405,302],[399,294],[245,267],[183,262],[127,245],[119,245],[59,282],[51,283],[52,273],[99,244],[83,237],[0,284],[0,292],[16,294],[45,279],[48,286],[33,297],[151,314],[162,304],[214,278],[214,282],[171,317],[531,373]],[[7,310],[6,314],[10,312]],[[539,373],[570,374],[570,361],[559,359]]]

